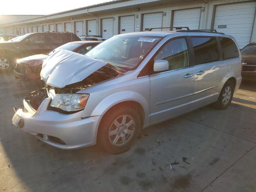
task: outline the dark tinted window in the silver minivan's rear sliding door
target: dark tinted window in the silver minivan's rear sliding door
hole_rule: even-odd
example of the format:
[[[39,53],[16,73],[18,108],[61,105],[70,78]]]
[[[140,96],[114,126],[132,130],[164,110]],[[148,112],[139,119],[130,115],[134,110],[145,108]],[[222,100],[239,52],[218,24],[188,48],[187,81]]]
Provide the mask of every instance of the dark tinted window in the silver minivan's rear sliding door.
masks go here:
[[[214,37],[192,37],[191,39],[196,65],[219,60],[218,46]]]

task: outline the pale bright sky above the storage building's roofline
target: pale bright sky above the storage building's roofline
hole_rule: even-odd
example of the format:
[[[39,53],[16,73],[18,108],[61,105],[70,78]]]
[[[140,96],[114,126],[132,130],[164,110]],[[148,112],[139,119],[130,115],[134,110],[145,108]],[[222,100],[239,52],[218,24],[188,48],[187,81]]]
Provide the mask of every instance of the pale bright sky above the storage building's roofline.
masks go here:
[[[46,15],[110,0],[1,0],[0,15]]]

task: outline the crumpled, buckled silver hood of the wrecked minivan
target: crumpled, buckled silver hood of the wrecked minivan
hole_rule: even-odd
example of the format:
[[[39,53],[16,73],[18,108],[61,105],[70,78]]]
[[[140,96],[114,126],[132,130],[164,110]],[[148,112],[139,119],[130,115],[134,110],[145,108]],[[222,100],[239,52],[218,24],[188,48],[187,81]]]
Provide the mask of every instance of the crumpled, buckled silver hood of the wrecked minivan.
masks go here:
[[[46,85],[64,88],[84,80],[106,64],[82,54],[60,49],[44,61],[40,76]]]

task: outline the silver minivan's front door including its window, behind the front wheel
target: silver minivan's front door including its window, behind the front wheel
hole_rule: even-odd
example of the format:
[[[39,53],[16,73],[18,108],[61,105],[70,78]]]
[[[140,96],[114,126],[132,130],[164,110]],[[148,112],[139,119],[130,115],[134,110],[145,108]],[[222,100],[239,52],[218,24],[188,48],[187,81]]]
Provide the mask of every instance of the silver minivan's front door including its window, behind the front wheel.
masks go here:
[[[169,69],[150,76],[150,123],[191,109],[194,68],[189,65],[186,38],[169,40],[154,57],[167,60]]]

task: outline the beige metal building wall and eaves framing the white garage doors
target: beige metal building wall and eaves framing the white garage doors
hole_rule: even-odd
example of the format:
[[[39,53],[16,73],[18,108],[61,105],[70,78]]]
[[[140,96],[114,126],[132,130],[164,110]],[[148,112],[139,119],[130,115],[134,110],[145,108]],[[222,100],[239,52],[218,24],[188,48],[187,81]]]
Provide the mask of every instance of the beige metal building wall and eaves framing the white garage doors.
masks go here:
[[[210,29],[214,22],[214,16],[215,16],[215,10],[216,6],[220,4],[230,4],[230,3],[236,3],[236,2],[248,2],[248,0],[208,0],[206,1],[192,1],[192,2],[186,2],[186,3],[172,3],[168,4],[168,1],[164,1],[162,6],[150,6],[148,3],[154,3],[154,2],[161,2],[161,0],[128,0],[124,2],[115,2],[112,4],[107,5],[99,5],[92,8],[87,9],[80,9],[80,10],[73,10],[70,12],[63,12],[59,14],[53,14],[46,17],[40,17],[33,19],[33,24],[30,25],[30,20],[24,21],[22,25],[18,26],[12,26],[10,30],[13,30],[13,28],[19,28],[24,26],[34,26],[34,25],[50,25],[57,23],[62,23],[62,26],[64,26],[64,23],[71,22],[71,16],[72,19],[72,26],[74,26],[74,22],[76,21],[83,21],[83,35],[86,35],[86,21],[87,20],[96,20],[96,33],[98,35],[102,34],[102,19],[104,18],[113,18],[113,34],[116,35],[119,33],[119,26],[120,26],[120,17],[121,16],[135,16],[134,21],[134,31],[141,30],[142,23],[143,23],[143,14],[147,13],[154,13],[154,12],[163,12],[163,18],[162,18],[162,26],[163,27],[170,27],[172,26],[173,17],[174,17],[174,11],[175,10],[184,10],[184,9],[190,9],[190,8],[204,8],[200,14],[200,21],[199,21],[199,29]],[[166,3],[167,2],[167,3]],[[253,1],[252,1],[253,2]],[[254,0],[255,2],[255,0]],[[142,4],[144,6],[140,6],[139,10],[136,10],[136,8],[130,8],[129,6],[134,6],[136,4]],[[118,11],[118,8],[128,7],[127,10],[120,10]],[[144,8],[145,7],[145,8]],[[114,11],[103,14],[103,10],[106,11],[107,9],[114,9]],[[99,14],[99,12],[102,11],[102,14]],[[93,16],[93,12],[97,12],[97,16]],[[92,13],[91,15],[86,13]],[[83,14],[83,15],[81,15]],[[79,16],[76,16],[79,15]],[[69,16],[69,17],[68,17]],[[62,17],[66,17],[66,19],[61,19]],[[68,17],[68,18],[67,18]],[[78,18],[76,18],[78,17]],[[72,32],[74,32],[74,28],[72,28]],[[14,30],[15,31],[15,30]],[[254,16],[254,25],[252,30],[252,37],[251,42],[256,41],[256,24],[255,24],[255,16]]]

